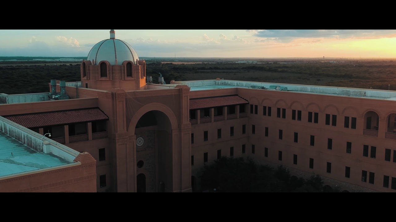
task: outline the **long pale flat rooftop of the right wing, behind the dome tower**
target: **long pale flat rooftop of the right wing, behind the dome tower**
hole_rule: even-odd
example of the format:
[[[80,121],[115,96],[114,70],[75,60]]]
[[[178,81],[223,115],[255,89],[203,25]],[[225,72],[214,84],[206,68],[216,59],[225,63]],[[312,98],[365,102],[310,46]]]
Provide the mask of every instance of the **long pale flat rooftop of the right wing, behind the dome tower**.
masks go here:
[[[350,96],[368,99],[396,100],[396,91],[392,90],[374,90],[364,88],[345,88],[345,87],[326,87],[313,85],[296,85],[284,83],[261,83],[249,81],[233,81],[233,80],[204,80],[204,81],[181,81],[175,84],[164,85],[169,87],[173,85],[188,85],[191,91],[197,90],[213,90],[220,88],[255,88],[256,90],[283,90],[289,92],[324,94],[333,96]],[[274,88],[279,86],[278,89]]]

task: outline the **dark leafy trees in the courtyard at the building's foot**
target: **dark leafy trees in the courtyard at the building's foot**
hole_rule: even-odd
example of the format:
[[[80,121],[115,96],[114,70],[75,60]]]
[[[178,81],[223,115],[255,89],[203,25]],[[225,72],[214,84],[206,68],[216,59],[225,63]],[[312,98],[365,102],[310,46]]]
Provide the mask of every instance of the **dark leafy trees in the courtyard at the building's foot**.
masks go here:
[[[291,176],[284,166],[273,169],[251,159],[221,157],[202,168],[201,190],[217,192],[341,192],[326,190],[322,178],[312,175],[308,180]]]

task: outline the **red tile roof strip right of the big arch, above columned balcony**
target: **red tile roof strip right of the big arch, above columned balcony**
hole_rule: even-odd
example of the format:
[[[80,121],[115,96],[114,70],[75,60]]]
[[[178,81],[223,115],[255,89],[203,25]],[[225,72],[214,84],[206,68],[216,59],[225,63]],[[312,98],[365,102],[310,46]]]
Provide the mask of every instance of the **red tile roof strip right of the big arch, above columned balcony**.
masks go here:
[[[240,96],[217,96],[199,99],[190,99],[190,109],[204,109],[227,105],[240,105],[249,103]]]

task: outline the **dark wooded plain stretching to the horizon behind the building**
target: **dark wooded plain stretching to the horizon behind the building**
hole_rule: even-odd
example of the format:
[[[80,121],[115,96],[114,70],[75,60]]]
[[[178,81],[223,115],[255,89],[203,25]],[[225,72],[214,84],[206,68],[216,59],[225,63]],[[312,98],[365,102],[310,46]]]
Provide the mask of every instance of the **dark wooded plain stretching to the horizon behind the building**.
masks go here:
[[[11,59],[11,57],[6,58]],[[340,60],[334,63],[316,60],[310,62],[309,60],[304,60],[304,62],[263,60],[262,64],[235,63],[220,59],[215,61],[198,64],[151,62],[147,63],[146,72],[147,75],[153,77],[154,83],[158,83],[159,73],[161,73],[166,83],[171,80],[191,81],[219,77],[240,81],[352,88],[372,87],[381,90],[388,90],[388,85],[390,85],[390,90],[396,90],[396,61],[393,60]],[[57,61],[57,66],[54,66],[54,63],[56,62],[1,61],[0,93],[47,92],[51,79],[80,81],[80,62],[76,64],[63,61],[61,64],[62,61]]]

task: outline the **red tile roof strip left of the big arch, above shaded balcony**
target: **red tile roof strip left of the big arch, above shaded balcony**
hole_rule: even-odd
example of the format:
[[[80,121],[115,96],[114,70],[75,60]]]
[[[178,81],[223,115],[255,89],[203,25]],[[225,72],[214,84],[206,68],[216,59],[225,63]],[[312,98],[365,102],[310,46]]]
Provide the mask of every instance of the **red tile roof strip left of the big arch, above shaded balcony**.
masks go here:
[[[4,116],[4,118],[16,122],[26,128],[38,128],[43,126],[67,125],[78,122],[92,122],[97,120],[109,120],[109,117],[99,108],[74,109],[53,111],[46,113],[30,113],[22,115]]]

